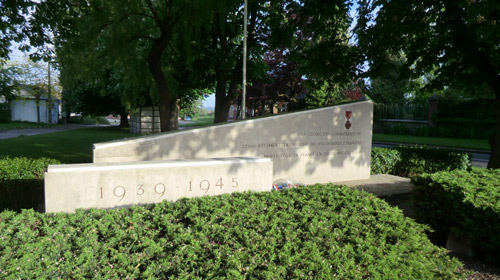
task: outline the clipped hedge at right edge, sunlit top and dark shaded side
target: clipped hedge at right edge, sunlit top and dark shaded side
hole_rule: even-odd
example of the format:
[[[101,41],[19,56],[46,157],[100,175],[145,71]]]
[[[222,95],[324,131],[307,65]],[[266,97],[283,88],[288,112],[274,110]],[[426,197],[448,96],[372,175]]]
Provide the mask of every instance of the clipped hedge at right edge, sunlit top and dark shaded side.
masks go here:
[[[452,230],[500,264],[500,169],[424,174],[413,183],[418,220],[436,230],[438,242]]]

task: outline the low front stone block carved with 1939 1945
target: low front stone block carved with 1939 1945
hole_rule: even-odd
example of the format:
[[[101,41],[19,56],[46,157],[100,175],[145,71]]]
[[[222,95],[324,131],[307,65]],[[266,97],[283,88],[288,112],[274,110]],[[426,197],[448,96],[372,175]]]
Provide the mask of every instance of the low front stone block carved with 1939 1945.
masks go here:
[[[267,158],[50,165],[45,211],[116,208],[182,197],[270,191]]]

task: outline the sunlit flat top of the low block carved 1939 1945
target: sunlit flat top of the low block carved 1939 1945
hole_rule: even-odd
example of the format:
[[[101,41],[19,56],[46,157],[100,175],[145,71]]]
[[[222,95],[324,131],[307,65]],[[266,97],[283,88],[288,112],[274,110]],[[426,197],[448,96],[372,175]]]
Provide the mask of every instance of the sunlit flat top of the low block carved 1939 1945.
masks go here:
[[[272,163],[270,158],[265,157],[228,157],[228,158],[209,158],[209,159],[186,159],[186,160],[154,160],[154,161],[135,161],[135,162],[103,162],[103,163],[79,163],[79,164],[60,164],[49,165],[48,173],[54,172],[74,172],[74,171],[104,171],[104,170],[126,170],[126,169],[147,169],[161,167],[195,167],[195,166],[214,166],[230,165],[238,163]]]

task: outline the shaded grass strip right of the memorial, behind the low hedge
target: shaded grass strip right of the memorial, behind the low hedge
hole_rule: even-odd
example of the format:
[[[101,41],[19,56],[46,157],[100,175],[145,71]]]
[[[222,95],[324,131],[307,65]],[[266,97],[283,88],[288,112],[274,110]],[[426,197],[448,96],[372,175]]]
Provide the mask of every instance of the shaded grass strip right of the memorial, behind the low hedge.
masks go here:
[[[450,148],[464,148],[486,151],[490,150],[488,140],[483,139],[455,139],[374,133],[373,141],[418,144],[426,146],[443,146]]]

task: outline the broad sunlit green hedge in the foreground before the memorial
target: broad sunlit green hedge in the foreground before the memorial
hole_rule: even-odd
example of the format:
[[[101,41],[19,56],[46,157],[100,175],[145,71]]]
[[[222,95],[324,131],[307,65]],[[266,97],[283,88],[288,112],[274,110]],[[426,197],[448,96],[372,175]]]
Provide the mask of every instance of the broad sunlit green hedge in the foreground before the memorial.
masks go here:
[[[0,213],[5,279],[434,279],[425,226],[334,185],[76,214]]]

